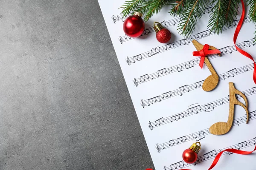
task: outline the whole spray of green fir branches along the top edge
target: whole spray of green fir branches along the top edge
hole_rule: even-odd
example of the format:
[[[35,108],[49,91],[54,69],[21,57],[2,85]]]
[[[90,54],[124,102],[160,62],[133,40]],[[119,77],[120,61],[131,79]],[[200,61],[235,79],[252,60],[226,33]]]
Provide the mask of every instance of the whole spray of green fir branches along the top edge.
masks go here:
[[[256,23],[256,0],[247,0],[247,3],[250,6],[251,21]],[[209,16],[208,28],[219,34],[222,33],[225,25],[230,26],[233,24],[233,20],[236,20],[239,4],[240,0],[211,0],[211,3],[209,0],[127,0],[120,8],[122,8],[124,16],[134,11],[143,13],[143,19],[146,22],[163,6],[169,5],[169,13],[181,18],[177,29],[183,37],[189,37],[195,29],[197,19],[201,18],[204,9],[209,5],[213,7]]]

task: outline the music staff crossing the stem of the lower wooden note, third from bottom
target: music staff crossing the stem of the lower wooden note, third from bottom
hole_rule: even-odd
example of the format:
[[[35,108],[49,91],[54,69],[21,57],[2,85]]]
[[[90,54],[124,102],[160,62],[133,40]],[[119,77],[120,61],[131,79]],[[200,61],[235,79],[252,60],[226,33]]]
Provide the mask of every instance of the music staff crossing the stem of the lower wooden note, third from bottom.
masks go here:
[[[256,87],[254,87],[256,88]],[[245,96],[250,96],[250,95],[254,95],[256,94],[256,91],[254,93],[251,93],[251,91],[253,90],[253,88],[250,88],[246,91],[243,91],[242,93],[245,95]],[[241,96],[237,95],[237,99],[240,99]],[[180,112],[180,113],[177,113],[175,115],[172,115],[172,116],[168,116],[166,118],[163,118],[163,122],[161,122],[161,124],[157,124],[157,122],[153,121],[151,122],[151,125],[156,128],[156,127],[160,127],[162,125],[166,125],[167,123],[172,123],[172,122],[175,122],[175,121],[179,121],[180,119],[183,119],[183,118],[186,118],[188,116],[191,116],[191,115],[194,115],[194,114],[197,114],[197,113],[200,113],[200,112],[209,112],[209,111],[212,111],[214,110],[214,108],[218,107],[218,106],[221,106],[221,105],[224,105],[226,103],[229,103],[229,96],[227,97],[224,97],[224,98],[221,98],[219,100],[215,100],[213,102],[210,102],[210,103],[207,103],[205,105],[198,105],[198,108],[202,108],[202,109],[198,109],[198,108],[190,108],[187,109],[186,111],[183,111],[183,112]],[[220,101],[223,101],[223,102],[220,102]],[[193,111],[193,112],[192,112]],[[180,116],[182,115],[182,116]],[[174,117],[176,117],[176,120],[174,121]],[[161,118],[162,119],[162,118]],[[149,125],[149,124],[148,124]],[[150,128],[150,130],[153,130],[154,128]]]

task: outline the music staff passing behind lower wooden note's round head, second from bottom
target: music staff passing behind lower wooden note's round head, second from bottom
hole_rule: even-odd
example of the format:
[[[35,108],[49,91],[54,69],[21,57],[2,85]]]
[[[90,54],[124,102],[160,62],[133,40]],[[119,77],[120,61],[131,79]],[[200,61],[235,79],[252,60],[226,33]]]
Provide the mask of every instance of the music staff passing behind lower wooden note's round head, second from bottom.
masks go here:
[[[251,120],[254,120],[254,119],[256,119],[256,111],[252,111],[252,112],[249,113],[249,120],[251,121]],[[243,123],[246,123],[246,120],[247,120],[247,115],[245,114],[245,116],[241,116],[237,119],[234,119],[232,126],[236,126],[236,125],[239,126]],[[237,122],[239,122],[239,124],[237,124]],[[176,145],[181,144],[183,142],[188,142],[188,141],[192,141],[192,140],[195,140],[195,142],[198,142],[198,141],[204,139],[209,134],[211,134],[209,132],[209,128],[204,129],[204,130],[200,130],[198,132],[191,133],[189,135],[182,136],[182,137],[179,137],[177,139],[169,140],[168,142],[164,142],[162,144],[157,144],[156,145],[156,150],[157,150],[157,146],[158,146],[158,150],[159,149],[160,150],[166,150],[170,147],[176,146]],[[183,139],[183,140],[181,141],[180,139]]]

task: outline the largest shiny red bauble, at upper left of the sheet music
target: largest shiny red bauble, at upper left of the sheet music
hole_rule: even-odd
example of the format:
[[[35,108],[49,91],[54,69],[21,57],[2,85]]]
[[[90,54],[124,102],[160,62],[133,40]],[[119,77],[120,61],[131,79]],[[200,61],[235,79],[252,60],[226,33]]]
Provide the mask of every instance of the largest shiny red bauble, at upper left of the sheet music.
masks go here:
[[[123,29],[126,35],[133,38],[141,36],[145,29],[145,23],[141,17],[141,13],[135,12],[134,15],[126,18],[123,25]]]

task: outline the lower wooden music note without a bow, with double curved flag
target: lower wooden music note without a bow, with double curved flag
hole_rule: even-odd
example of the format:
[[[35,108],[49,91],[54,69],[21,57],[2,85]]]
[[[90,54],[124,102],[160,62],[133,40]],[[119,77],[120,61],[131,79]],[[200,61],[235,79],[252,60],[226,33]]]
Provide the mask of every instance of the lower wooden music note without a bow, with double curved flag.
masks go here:
[[[229,90],[230,90],[230,108],[229,108],[227,122],[218,122],[218,123],[213,124],[209,129],[209,132],[212,133],[213,135],[223,135],[230,130],[232,123],[233,123],[235,105],[240,105],[241,107],[244,108],[244,110],[246,111],[246,114],[247,114],[246,123],[248,122],[248,119],[249,119],[249,113],[248,113],[248,109],[247,109],[248,102],[247,102],[245,95],[242,94],[241,91],[238,91],[234,87],[233,82],[229,82]],[[236,99],[236,94],[239,94],[244,99],[245,105]]]

